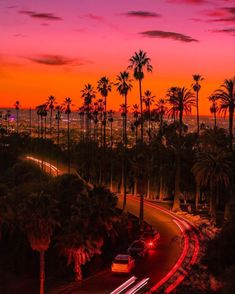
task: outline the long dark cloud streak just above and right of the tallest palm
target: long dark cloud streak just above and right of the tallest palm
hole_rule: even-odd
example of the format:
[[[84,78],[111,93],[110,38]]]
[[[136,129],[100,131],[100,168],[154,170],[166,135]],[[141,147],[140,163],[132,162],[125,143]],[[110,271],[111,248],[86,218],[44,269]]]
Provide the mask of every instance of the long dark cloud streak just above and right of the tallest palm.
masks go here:
[[[175,32],[152,30],[152,31],[140,32],[139,34],[142,35],[143,37],[171,39],[171,40],[185,42],[185,43],[198,42],[197,39],[194,39],[184,34],[175,33]]]

